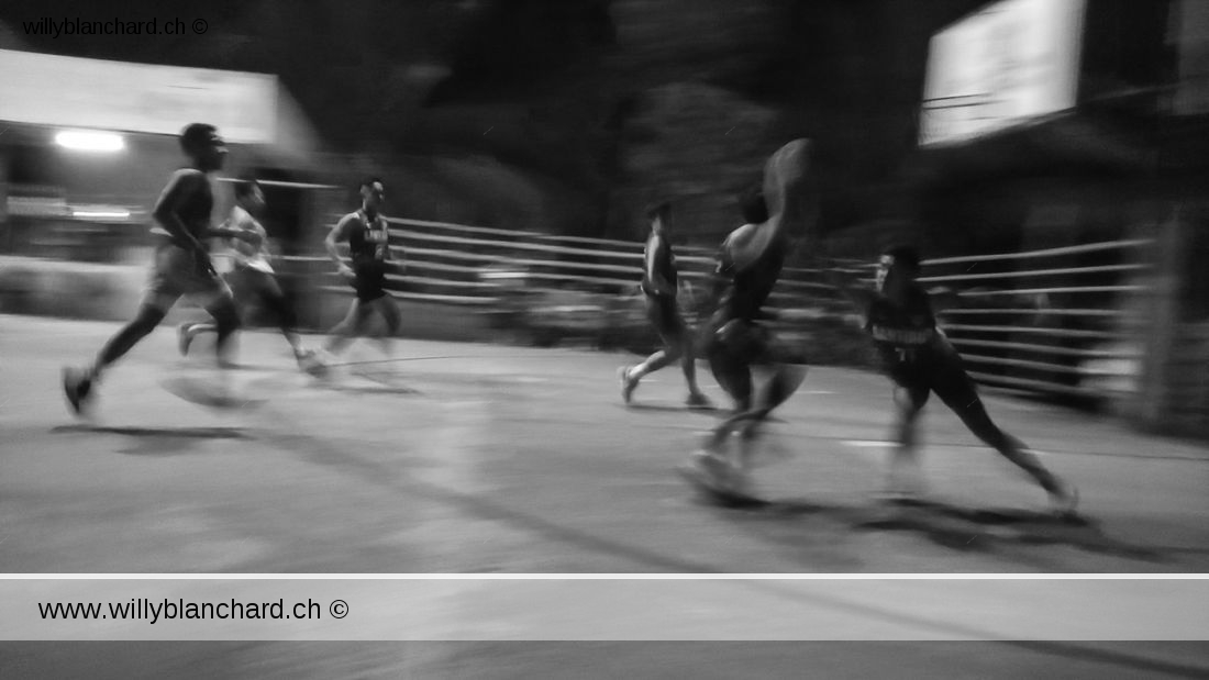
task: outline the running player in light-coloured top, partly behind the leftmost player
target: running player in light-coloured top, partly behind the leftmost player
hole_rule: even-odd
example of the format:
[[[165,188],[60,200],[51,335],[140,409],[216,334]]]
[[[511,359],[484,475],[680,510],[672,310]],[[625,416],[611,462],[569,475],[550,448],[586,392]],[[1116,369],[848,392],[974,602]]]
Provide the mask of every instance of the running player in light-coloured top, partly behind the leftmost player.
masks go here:
[[[244,306],[259,301],[277,316],[278,327],[294,350],[294,359],[299,366],[306,367],[313,353],[302,347],[302,341],[295,330],[297,316],[285,300],[285,293],[282,292],[277,274],[270,263],[272,255],[268,249],[268,232],[254,217],[265,208],[265,193],[256,180],[249,179],[235,185],[235,198],[236,204],[231,209],[227,225],[243,236],[225,239],[236,258],[235,269],[227,274],[226,280],[237,301]],[[178,329],[180,353],[189,354],[189,345],[198,333],[216,330],[218,326],[214,324],[181,324]]]

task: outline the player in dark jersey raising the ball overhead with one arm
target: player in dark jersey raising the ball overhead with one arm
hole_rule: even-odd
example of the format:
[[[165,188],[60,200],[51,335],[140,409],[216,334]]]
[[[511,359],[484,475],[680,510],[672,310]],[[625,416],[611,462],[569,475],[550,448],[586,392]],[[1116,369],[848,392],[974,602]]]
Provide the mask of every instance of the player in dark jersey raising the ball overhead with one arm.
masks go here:
[[[731,232],[718,254],[718,302],[702,333],[710,368],[734,399],[735,412],[682,467],[690,478],[716,490],[744,493],[759,426],[805,378],[803,367],[783,361],[783,350],[760,321],[774,318],[764,303],[794,238],[808,236],[814,226],[817,196],[811,185],[810,143],[799,139],[777,150],[765,165],[763,193],[751,194],[744,208],[745,217],[767,219],[748,220]],[[752,384],[754,366],[770,373],[758,390]],[[729,457],[725,443],[736,430],[739,454]]]

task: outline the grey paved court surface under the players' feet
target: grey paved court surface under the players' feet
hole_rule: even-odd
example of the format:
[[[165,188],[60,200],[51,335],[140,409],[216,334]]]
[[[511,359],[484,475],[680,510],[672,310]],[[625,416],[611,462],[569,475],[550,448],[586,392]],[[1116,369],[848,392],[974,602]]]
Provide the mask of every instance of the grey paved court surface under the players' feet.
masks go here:
[[[634,358],[401,341],[326,384],[267,332],[241,338],[241,389],[215,412],[170,395],[204,376],[161,329],[73,418],[59,367],[112,324],[0,316],[5,573],[1202,573],[1209,452],[990,396],[994,417],[1077,482],[1088,521],[933,405],[932,505],[874,502],[883,378],[815,368],[771,426],[763,508],[702,505],[672,472],[717,415],[679,408],[678,372],[619,403]],[[318,338],[310,338],[318,342]],[[206,341],[198,353],[204,354]],[[705,372],[702,371],[702,374]],[[721,391],[710,385],[719,402]],[[735,589],[735,606],[750,594]],[[758,606],[758,603],[751,601]],[[954,603],[960,608],[960,603]],[[1005,606],[1013,606],[1006,603]],[[586,612],[585,612],[586,615]],[[204,643],[4,644],[2,676],[1196,676],[1203,644]]]

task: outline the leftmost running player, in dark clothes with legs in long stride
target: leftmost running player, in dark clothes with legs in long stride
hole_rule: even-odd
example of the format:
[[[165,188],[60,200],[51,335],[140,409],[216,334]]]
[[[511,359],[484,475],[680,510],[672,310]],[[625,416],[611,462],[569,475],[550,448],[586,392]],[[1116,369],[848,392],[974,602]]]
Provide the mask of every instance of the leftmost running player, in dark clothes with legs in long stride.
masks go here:
[[[214,318],[220,366],[225,362],[227,341],[239,327],[231,289],[214,272],[206,246],[210,238],[245,238],[237,229],[210,225],[214,208],[210,175],[222,169],[226,144],[214,126],[193,123],[181,132],[180,147],[191,165],[173,173],[156,202],[152,214],[158,227],[152,233],[161,237],[161,244],[138,314],[105,343],[92,366],[63,370],[63,389],[77,414],[104,370],[154,331],[183,295],[198,298]]]

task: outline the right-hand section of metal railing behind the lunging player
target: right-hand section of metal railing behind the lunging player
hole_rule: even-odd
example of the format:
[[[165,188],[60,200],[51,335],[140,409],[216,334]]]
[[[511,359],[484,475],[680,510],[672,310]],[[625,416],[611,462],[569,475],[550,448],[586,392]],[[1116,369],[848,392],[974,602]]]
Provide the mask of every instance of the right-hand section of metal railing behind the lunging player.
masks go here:
[[[1008,389],[1103,399],[1139,389],[1139,309],[1150,239],[1120,239],[925,261],[925,284],[970,304],[942,327],[974,379]],[[989,269],[989,271],[988,271]],[[993,284],[995,290],[960,290]],[[988,304],[997,301],[1001,304]],[[1023,304],[1022,304],[1023,302]]]

